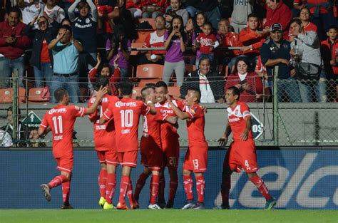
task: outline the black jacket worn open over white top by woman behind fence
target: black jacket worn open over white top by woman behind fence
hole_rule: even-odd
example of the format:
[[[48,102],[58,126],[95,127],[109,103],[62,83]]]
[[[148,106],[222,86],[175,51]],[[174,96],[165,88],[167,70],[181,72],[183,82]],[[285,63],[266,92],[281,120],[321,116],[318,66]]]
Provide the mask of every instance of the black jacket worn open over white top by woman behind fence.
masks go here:
[[[200,89],[200,76],[198,75],[199,70],[189,73],[185,78],[182,87],[180,88],[180,97],[184,98],[189,88]],[[210,71],[207,75],[210,88],[215,97],[215,100],[224,98],[224,86],[225,80],[218,72]]]

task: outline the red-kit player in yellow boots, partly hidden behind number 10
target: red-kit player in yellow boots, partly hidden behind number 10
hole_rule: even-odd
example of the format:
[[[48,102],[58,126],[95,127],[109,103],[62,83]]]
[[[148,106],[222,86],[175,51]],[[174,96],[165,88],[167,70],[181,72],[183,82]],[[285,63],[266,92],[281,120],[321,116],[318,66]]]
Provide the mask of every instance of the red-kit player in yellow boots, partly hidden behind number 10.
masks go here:
[[[98,155],[98,161],[101,165],[101,170],[98,175],[98,185],[100,187],[100,200],[98,204],[103,209],[114,209],[111,202],[116,189],[116,166],[119,165],[118,155],[116,153],[115,142],[115,126],[114,120],[100,125],[98,120],[103,115],[103,111],[108,108],[110,103],[118,101],[118,97],[109,95],[111,88],[109,88],[108,76],[98,76],[96,79],[96,88],[106,87],[108,93],[103,95],[96,109],[96,112],[89,115],[89,119],[94,123],[94,147]],[[88,102],[88,108],[96,102],[96,95],[94,95]]]

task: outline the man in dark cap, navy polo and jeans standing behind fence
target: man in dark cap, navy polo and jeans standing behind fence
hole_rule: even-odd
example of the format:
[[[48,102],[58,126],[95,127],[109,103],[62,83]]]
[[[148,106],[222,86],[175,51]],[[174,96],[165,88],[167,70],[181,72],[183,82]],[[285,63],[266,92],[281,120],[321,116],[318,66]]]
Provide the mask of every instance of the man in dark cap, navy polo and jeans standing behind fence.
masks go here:
[[[291,102],[299,103],[301,98],[295,80],[296,69],[290,66],[290,50],[290,42],[282,37],[282,25],[272,24],[270,39],[265,41],[260,48],[262,64],[267,68],[269,86],[272,88],[272,76],[276,75],[278,71],[278,100],[282,102],[282,95],[285,92]]]

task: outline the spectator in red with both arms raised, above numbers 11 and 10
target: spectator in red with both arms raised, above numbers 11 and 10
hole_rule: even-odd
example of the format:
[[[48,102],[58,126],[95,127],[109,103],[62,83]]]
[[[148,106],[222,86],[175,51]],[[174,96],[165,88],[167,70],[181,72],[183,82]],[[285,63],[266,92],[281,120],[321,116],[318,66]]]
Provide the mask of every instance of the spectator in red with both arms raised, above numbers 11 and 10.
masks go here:
[[[102,76],[109,76],[109,83],[111,84],[111,92],[113,95],[118,95],[118,86],[116,84],[120,82],[120,77],[121,77],[121,71],[120,68],[118,68],[118,64],[116,61],[120,55],[116,56],[115,61],[114,61],[114,69],[112,72],[111,65],[108,63],[103,63],[101,64],[101,57],[100,53],[98,53],[98,57],[96,60],[98,63],[96,63],[96,66],[89,71],[89,80],[91,83],[94,85],[96,83],[96,78],[100,75]]]

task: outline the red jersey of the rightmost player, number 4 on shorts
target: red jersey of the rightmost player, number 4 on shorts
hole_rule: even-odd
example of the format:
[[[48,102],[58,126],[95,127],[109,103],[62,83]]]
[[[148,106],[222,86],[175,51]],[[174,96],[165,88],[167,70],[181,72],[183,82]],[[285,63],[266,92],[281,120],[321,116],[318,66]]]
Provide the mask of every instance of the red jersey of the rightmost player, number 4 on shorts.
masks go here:
[[[246,129],[247,123],[245,118],[247,117],[251,118],[251,113],[249,107],[244,102],[237,102],[236,107],[233,109],[230,107],[227,108],[227,122],[229,123],[232,130],[233,140],[240,140],[240,135]],[[247,138],[252,139],[251,129]]]

